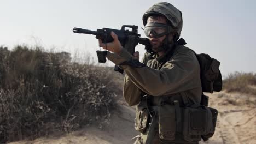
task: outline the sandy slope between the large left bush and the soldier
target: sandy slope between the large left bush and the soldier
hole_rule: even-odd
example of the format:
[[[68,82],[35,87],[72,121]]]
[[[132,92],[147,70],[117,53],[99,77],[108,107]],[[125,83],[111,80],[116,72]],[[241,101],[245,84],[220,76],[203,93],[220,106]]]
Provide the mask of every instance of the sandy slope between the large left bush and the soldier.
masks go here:
[[[62,136],[42,137],[34,141],[17,141],[13,144],[29,143],[88,143],[88,144],[109,144],[109,143],[133,143],[132,137],[138,135],[133,128],[135,109],[120,104],[117,110],[112,113],[110,122],[103,128],[85,127],[82,130],[74,131]]]

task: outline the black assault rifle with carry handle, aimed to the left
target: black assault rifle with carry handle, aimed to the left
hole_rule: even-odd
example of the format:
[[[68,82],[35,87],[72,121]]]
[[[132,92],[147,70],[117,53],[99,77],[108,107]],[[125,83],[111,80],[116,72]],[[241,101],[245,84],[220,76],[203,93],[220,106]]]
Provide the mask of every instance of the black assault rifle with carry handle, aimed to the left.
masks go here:
[[[131,28],[131,31],[125,29],[125,28]],[[138,34],[138,26],[130,26],[130,25],[123,25],[121,29],[110,29],[110,28],[102,28],[97,29],[97,31],[90,31],[88,29],[82,29],[82,28],[73,28],[74,33],[84,33],[84,34],[93,34],[96,35],[96,39],[101,39],[103,43],[109,43],[113,41],[112,36],[110,35],[110,32],[114,32],[118,35],[118,39],[121,43],[121,45],[126,49],[131,55],[135,52],[135,47],[138,44],[145,45],[145,49],[149,49],[150,43],[147,38],[140,38],[140,34]],[[106,63],[106,55],[107,51],[96,51],[98,62],[100,63]],[[120,73],[123,73],[124,70],[118,67],[118,65],[115,65],[114,68],[115,71],[119,71]]]

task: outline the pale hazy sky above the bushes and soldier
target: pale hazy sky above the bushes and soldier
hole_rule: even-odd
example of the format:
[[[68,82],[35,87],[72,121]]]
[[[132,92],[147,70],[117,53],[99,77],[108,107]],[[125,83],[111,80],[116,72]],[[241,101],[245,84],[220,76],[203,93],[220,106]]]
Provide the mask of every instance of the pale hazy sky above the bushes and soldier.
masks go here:
[[[45,49],[96,57],[94,35],[75,34],[73,27],[96,31],[122,25],[142,25],[142,15],[160,1],[0,0],[0,45],[41,45]],[[197,53],[208,53],[221,62],[223,75],[234,71],[256,72],[256,1],[177,0],[183,13],[181,37]],[[145,37],[139,28],[139,34]],[[144,47],[136,48],[141,53]],[[82,54],[81,54],[82,53]]]

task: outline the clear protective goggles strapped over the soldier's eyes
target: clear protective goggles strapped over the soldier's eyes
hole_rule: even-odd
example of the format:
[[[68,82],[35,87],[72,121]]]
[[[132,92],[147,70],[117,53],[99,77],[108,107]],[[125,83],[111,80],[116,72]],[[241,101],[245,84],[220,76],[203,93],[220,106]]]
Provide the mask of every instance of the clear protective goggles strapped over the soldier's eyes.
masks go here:
[[[144,27],[144,33],[147,37],[160,38],[173,31],[171,26],[163,23],[147,23]],[[152,35],[150,35],[152,34]]]

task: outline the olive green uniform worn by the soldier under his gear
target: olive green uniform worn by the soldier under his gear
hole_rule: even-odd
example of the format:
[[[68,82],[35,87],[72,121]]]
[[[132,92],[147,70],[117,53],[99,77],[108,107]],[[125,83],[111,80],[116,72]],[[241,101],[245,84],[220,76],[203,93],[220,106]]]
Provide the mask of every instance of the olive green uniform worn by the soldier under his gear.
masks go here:
[[[117,65],[135,59],[125,49],[119,55],[108,52],[107,57]],[[190,103],[200,104],[202,93],[200,65],[195,53],[188,47],[177,45],[174,51],[170,49],[163,56],[157,54],[151,56],[146,52],[142,63],[147,67],[135,68],[120,65],[126,72],[123,93],[127,104],[130,106],[139,104],[145,94],[151,95],[149,96],[150,106],[158,106],[159,101],[165,96],[170,101],[182,101],[182,95],[185,95]],[[139,110],[141,109],[138,107],[137,113]],[[146,132],[141,133],[138,140],[141,139],[141,142],[145,143],[147,131],[148,128]],[[173,142],[185,143],[181,137],[177,135],[176,141]],[[155,134],[154,142],[161,143],[158,133]]]

